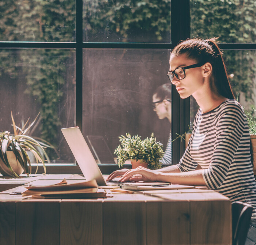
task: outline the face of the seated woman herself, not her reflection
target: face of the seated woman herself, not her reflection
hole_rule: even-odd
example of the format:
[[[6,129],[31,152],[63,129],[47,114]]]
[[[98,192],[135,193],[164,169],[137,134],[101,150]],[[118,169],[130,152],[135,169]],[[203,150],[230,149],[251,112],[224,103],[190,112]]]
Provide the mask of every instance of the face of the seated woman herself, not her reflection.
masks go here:
[[[170,71],[197,63],[198,62],[196,60],[188,59],[186,54],[173,56],[170,59]],[[202,67],[196,67],[185,69],[186,76],[184,79],[179,80],[176,78],[176,76],[174,76],[172,84],[175,85],[176,90],[182,99],[188,98],[190,95],[195,97],[196,94],[203,92],[202,87],[204,84],[204,77],[202,74]]]

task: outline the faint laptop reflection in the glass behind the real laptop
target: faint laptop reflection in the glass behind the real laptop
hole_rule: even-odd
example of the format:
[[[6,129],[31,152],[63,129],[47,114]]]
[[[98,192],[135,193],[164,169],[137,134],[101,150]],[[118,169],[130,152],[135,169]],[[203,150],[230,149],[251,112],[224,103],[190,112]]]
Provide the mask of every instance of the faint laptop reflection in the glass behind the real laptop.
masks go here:
[[[110,151],[106,140],[101,135],[87,135],[87,140],[98,160],[102,164],[115,164],[114,157]]]

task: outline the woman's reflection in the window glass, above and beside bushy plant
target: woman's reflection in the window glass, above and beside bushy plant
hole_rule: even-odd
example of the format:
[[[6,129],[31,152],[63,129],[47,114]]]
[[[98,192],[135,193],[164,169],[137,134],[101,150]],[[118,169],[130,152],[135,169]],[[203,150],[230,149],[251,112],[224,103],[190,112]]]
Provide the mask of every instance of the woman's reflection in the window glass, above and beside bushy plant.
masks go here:
[[[159,119],[167,118],[172,123],[172,85],[170,83],[163,84],[155,90],[152,98],[154,111]],[[170,132],[165,154],[161,159],[162,163],[172,164],[172,135]]]

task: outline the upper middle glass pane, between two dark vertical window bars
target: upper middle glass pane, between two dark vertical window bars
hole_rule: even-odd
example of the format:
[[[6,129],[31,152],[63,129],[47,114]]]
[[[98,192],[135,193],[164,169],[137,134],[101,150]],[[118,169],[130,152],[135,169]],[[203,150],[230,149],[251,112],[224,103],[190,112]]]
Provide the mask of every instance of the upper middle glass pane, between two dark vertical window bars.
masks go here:
[[[83,0],[84,42],[170,42],[170,0]]]

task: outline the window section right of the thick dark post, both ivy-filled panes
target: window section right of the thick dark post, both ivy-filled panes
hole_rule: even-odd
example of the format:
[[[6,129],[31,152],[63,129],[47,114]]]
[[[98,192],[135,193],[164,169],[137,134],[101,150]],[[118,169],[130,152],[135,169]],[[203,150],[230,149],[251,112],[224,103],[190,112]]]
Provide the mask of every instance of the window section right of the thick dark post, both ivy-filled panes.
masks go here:
[[[191,37],[219,37],[235,97],[245,109],[256,107],[255,1],[191,0],[190,15]],[[192,122],[197,109],[191,98]]]

